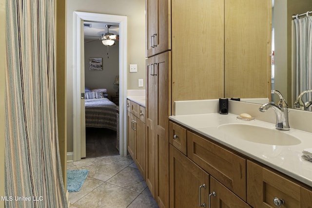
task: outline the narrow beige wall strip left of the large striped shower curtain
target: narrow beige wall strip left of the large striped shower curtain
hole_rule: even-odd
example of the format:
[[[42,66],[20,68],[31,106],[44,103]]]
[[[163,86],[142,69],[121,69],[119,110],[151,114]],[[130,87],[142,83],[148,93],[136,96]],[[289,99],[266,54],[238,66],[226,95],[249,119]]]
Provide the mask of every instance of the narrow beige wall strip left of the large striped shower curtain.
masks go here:
[[[0,0],[0,196],[4,196],[4,138],[5,138],[5,0]],[[4,201],[0,201],[0,208],[4,208]]]

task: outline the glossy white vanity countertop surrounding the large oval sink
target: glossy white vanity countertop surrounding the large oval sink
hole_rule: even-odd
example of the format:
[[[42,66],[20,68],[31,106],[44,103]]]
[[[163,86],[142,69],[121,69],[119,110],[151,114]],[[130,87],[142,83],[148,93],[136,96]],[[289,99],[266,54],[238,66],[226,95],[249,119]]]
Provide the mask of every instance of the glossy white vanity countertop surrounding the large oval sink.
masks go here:
[[[173,115],[169,118],[312,187],[312,162],[301,158],[302,150],[312,148],[312,133],[294,129],[283,131],[297,137],[301,143],[292,146],[278,146],[245,141],[226,134],[217,128],[222,124],[242,123],[275,129],[275,125],[272,123],[259,120],[243,121],[238,120],[236,117],[237,115],[230,113],[226,115],[206,113]]]

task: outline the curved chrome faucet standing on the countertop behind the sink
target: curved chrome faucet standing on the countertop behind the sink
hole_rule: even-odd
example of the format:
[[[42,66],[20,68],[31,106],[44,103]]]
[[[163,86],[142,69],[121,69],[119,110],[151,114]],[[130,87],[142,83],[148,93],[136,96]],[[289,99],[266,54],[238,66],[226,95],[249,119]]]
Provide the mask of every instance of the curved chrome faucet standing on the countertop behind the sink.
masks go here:
[[[277,105],[274,103],[265,103],[260,106],[259,111],[266,112],[269,108],[273,108],[276,115],[276,125],[275,128],[278,130],[290,130],[288,123],[288,105],[283,95],[277,90],[272,90],[272,94],[276,93],[279,96],[279,101]]]

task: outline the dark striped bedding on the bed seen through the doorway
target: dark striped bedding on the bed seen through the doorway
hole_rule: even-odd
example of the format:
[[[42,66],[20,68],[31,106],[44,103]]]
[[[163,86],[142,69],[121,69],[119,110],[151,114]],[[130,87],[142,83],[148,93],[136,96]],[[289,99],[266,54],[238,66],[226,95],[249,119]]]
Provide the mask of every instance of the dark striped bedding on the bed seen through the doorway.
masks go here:
[[[108,98],[86,99],[86,127],[117,130],[117,105]]]

